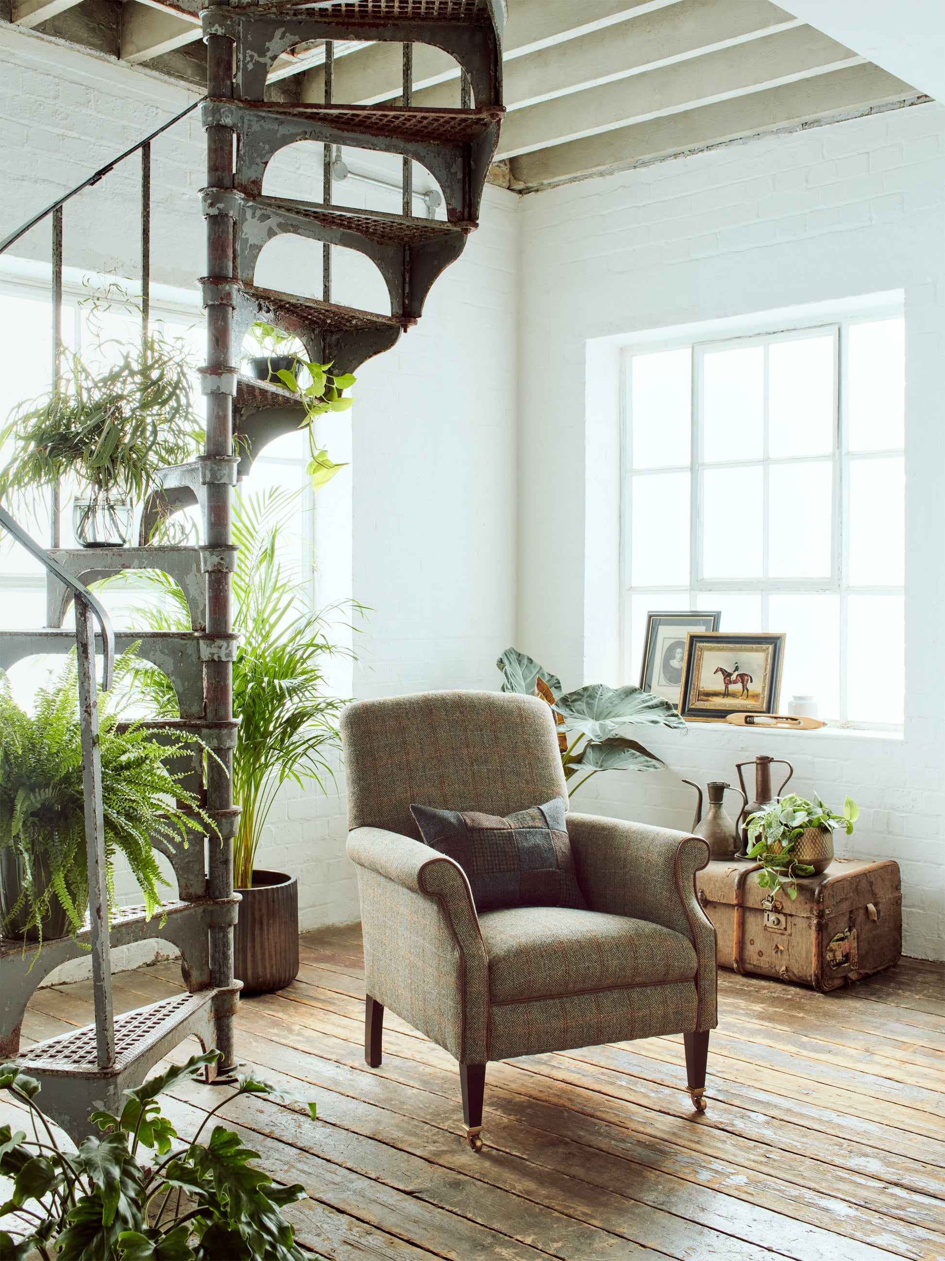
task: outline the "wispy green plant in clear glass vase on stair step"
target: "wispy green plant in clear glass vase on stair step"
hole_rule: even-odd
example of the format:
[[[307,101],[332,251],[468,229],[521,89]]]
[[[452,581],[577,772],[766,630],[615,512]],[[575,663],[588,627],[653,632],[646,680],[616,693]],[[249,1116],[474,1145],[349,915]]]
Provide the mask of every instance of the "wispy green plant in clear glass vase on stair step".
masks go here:
[[[83,547],[125,546],[135,503],[158,470],[193,459],[203,440],[185,344],[159,330],[134,344],[103,337],[94,315],[111,300],[96,300],[87,357],[63,351],[58,388],[20,404],[0,433],[0,443],[13,443],[0,497],[26,499],[63,479],[78,482],[84,491],[73,504],[73,531]]]

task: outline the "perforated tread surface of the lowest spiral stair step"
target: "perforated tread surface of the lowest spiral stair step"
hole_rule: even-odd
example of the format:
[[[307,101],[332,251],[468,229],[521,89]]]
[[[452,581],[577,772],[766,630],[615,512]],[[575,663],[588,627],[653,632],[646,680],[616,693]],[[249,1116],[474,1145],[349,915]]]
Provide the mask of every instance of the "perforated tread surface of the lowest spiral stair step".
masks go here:
[[[63,1073],[69,1077],[112,1077],[123,1072],[161,1038],[184,1024],[195,1013],[212,1002],[217,990],[199,990],[197,994],[175,994],[146,1008],[126,1011],[115,1018],[115,1067],[101,1069],[96,1058],[94,1025],[86,1025],[74,1033],[60,1034],[48,1042],[39,1042],[16,1057],[16,1064],[44,1074]]]

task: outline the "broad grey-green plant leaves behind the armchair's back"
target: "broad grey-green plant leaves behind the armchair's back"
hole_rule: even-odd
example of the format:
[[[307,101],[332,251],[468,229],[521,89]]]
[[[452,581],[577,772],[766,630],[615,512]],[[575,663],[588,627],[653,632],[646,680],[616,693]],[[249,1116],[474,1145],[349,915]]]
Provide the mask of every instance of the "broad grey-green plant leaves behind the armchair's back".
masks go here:
[[[621,728],[638,724],[685,728],[669,701],[639,687],[588,683],[562,692],[556,675],[517,648],[507,648],[496,665],[504,675],[504,692],[541,696],[551,705],[558,724],[564,778],[583,773],[570,789],[571,796],[600,770],[659,770],[664,765],[649,749],[621,735]]]

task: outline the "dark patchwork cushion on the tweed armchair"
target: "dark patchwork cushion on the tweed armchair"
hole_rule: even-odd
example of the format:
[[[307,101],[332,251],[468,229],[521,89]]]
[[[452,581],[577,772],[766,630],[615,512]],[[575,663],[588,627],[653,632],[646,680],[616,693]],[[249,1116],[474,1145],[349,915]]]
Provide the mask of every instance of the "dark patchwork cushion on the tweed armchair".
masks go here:
[[[411,806],[420,835],[469,878],[478,912],[498,907],[587,904],[577,886],[561,797],[503,818]]]

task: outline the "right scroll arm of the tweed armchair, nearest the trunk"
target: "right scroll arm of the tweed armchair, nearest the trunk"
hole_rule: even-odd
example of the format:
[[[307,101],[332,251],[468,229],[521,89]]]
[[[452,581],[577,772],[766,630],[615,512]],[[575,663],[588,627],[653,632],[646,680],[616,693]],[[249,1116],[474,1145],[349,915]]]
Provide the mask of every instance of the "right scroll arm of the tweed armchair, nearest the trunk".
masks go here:
[[[699,961],[697,1029],[713,1028],[716,929],[696,895],[696,873],[709,860],[708,842],[668,827],[593,815],[567,815],[567,828],[591,910],[663,924],[693,943]]]

